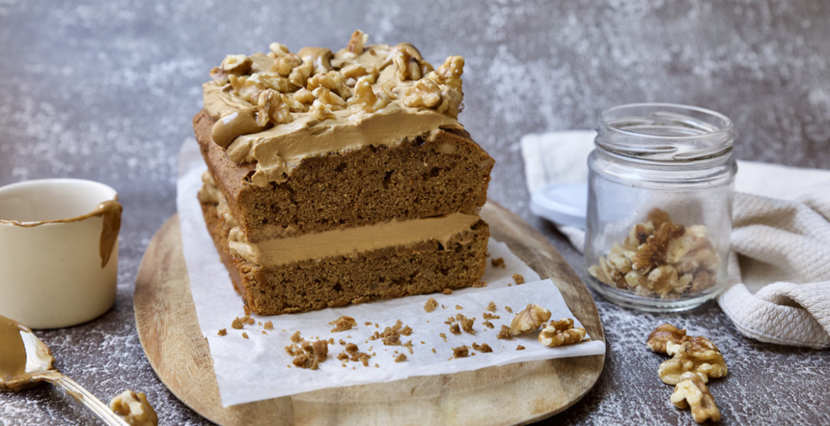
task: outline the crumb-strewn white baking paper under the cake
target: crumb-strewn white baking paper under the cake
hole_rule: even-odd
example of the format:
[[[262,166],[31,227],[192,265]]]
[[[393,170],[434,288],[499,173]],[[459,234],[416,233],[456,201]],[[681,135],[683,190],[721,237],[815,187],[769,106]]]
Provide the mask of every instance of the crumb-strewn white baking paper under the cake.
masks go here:
[[[196,198],[198,189],[202,187],[201,175],[205,169],[198,144],[195,140],[186,140],[179,155],[178,221],[193,302],[199,326],[210,346],[223,406],[315,389],[388,382],[520,361],[599,355],[605,352],[602,341],[545,348],[536,340],[535,333],[518,336],[515,340],[496,339],[500,326],[509,325],[514,317],[514,314],[505,311],[505,306],[518,312],[528,303],[536,303],[549,309],[554,319],[574,316],[565,305],[555,283],[549,280],[539,281],[539,276],[515,257],[505,244],[493,239],[488,247],[490,257],[503,257],[505,267],[492,267],[488,262],[482,278],[487,283],[485,287],[466,288],[454,291],[452,295],[408,296],[300,314],[254,316],[257,321],[255,325],[245,326],[243,330],[233,329],[232,321],[244,315],[242,299],[234,291],[227,270],[219,261]],[[526,283],[512,285],[515,273],[525,277]],[[423,306],[430,297],[435,298],[439,306],[435,311],[427,313]],[[500,316],[500,319],[491,320],[494,325],[492,329],[481,324],[484,321],[482,313],[486,312],[490,301],[496,302],[497,306],[493,314]],[[444,321],[457,314],[476,318],[473,326],[475,335],[463,332],[461,335],[453,335],[449,331],[449,326]],[[358,326],[349,331],[331,332],[333,327],[329,323],[339,316],[353,317]],[[383,331],[384,327],[393,326],[398,320],[413,329],[412,335],[401,336],[403,342],[413,341],[412,354],[403,346],[384,346],[380,340],[368,340],[375,331]],[[266,321],[273,323],[273,330],[266,331],[259,325]],[[364,325],[367,321],[371,325]],[[579,321],[575,322],[579,326]],[[378,327],[374,324],[378,324]],[[217,335],[220,329],[227,329],[227,335]],[[300,331],[306,340],[334,338],[334,345],[329,346],[329,358],[320,364],[320,370],[304,370],[291,365],[293,357],[286,353],[285,347],[291,344],[289,336],[295,331]],[[242,332],[247,333],[247,339],[242,338]],[[439,333],[444,333],[447,341]],[[369,366],[347,361],[344,367],[344,363],[335,358],[343,350],[339,340],[355,343],[363,352],[374,353]],[[476,355],[451,360],[453,347],[471,346],[473,342],[480,345],[486,343],[493,351],[481,353],[471,350]],[[516,350],[518,345],[524,345],[526,349]],[[435,348],[434,353],[432,348]],[[407,355],[407,360],[394,362],[398,353]]]

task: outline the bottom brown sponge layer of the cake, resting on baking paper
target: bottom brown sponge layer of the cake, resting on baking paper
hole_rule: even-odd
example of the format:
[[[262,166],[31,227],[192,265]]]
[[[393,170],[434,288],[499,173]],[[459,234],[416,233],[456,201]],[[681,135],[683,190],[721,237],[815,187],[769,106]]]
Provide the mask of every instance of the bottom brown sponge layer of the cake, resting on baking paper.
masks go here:
[[[230,227],[217,204],[201,203],[207,230],[246,313],[277,315],[427,294],[472,286],[484,275],[490,228],[483,220],[443,244],[427,240],[262,267],[229,252]]]

